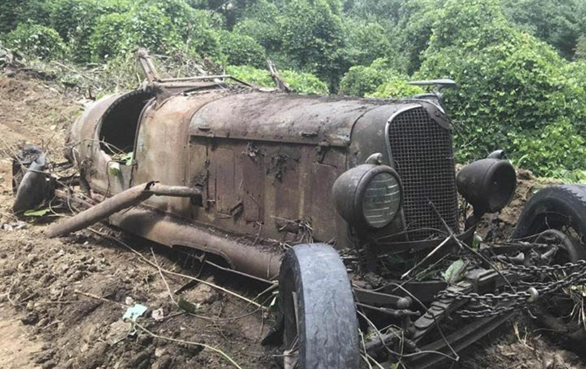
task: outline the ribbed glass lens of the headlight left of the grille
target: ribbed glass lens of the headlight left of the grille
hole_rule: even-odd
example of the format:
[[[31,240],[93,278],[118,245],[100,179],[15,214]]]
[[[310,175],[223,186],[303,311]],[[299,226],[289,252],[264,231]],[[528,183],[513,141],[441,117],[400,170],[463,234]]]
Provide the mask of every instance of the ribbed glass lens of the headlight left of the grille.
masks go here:
[[[366,187],[362,203],[364,219],[369,226],[381,228],[397,215],[401,205],[401,189],[390,173],[375,175]]]

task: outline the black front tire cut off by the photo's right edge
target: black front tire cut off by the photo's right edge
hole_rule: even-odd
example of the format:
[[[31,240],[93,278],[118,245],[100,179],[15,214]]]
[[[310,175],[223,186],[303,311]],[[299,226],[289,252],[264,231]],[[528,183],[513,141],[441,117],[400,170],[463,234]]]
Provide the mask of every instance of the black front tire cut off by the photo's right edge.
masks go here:
[[[519,217],[512,239],[523,239],[547,229],[573,230],[568,234],[586,242],[586,185],[546,187],[527,201]],[[586,249],[584,250],[586,251]]]

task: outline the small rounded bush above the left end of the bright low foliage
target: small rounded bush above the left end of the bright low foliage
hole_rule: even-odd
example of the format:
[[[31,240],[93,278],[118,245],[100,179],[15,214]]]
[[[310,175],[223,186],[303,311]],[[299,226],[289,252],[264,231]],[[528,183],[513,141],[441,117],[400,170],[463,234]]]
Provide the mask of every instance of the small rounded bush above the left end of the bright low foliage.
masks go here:
[[[263,67],[266,65],[264,47],[250,36],[236,32],[222,31],[220,33],[222,53],[226,54],[227,61],[233,65],[252,65]]]

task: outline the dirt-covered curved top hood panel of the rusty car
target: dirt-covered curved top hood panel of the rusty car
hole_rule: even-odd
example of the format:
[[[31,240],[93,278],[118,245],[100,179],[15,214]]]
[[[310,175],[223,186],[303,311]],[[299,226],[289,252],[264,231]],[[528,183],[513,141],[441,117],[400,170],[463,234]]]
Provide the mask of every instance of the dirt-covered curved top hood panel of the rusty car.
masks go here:
[[[347,146],[356,120],[380,104],[342,96],[233,94],[197,111],[189,135]]]

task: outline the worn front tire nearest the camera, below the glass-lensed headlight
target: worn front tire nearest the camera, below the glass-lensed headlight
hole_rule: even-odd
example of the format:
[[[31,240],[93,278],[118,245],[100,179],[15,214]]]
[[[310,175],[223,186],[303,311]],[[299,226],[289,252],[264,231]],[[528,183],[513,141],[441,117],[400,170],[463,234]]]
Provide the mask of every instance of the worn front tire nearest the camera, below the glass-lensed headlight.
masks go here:
[[[281,264],[279,296],[284,347],[291,349],[298,337],[298,368],[360,367],[352,287],[333,247],[316,243],[289,249]]]

